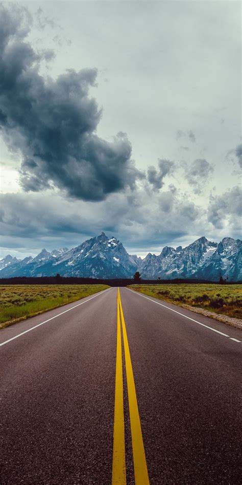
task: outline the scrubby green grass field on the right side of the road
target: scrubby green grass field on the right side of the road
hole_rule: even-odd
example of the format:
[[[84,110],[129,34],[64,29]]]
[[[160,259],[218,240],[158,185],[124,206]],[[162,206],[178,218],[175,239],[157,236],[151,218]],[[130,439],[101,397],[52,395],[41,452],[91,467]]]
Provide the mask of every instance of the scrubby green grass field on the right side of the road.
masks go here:
[[[131,289],[177,305],[242,319],[241,284],[132,284]]]

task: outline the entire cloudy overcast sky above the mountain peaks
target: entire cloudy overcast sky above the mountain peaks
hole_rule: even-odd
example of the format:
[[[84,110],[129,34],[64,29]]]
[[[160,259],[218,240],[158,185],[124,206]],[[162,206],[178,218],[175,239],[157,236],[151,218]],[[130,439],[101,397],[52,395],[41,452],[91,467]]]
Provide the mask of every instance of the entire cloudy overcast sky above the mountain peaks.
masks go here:
[[[240,9],[0,2],[0,256],[240,237]]]

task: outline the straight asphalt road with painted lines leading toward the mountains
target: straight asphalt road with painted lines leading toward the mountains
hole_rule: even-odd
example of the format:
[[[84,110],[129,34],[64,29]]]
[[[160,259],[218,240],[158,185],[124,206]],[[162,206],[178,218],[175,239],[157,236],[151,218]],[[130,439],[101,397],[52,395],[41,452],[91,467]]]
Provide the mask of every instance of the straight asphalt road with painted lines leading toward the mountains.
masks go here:
[[[241,331],[120,300],[1,330],[1,484],[241,484]]]

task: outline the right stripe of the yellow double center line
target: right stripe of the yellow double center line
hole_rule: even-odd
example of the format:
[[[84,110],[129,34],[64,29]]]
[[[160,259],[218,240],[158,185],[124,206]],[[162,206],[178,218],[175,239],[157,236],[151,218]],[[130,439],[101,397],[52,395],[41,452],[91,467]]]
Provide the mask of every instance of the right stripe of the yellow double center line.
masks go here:
[[[149,485],[150,481],[149,481],[147,464],[146,464],[146,454],[144,453],[143,438],[142,438],[138,403],[137,403],[135,383],[134,383],[134,374],[133,374],[133,368],[131,363],[129,342],[128,342],[128,337],[126,332],[126,325],[125,325],[125,319],[124,319],[124,313],[123,313],[119,289],[118,289],[118,301],[119,301],[119,307],[120,307],[123,338],[124,338],[135,485]],[[119,482],[119,483],[123,483],[123,482]]]

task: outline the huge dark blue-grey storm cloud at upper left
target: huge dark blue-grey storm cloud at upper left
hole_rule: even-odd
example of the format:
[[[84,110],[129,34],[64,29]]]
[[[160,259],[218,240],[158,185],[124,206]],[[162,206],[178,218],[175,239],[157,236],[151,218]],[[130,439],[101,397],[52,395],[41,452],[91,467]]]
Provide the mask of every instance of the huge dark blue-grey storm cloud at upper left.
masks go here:
[[[86,201],[133,189],[143,174],[131,161],[126,134],[110,143],[95,133],[102,115],[89,97],[96,69],[44,79],[39,63],[53,53],[33,50],[30,24],[25,9],[0,5],[0,127],[9,148],[21,152],[23,189],[54,186]]]

